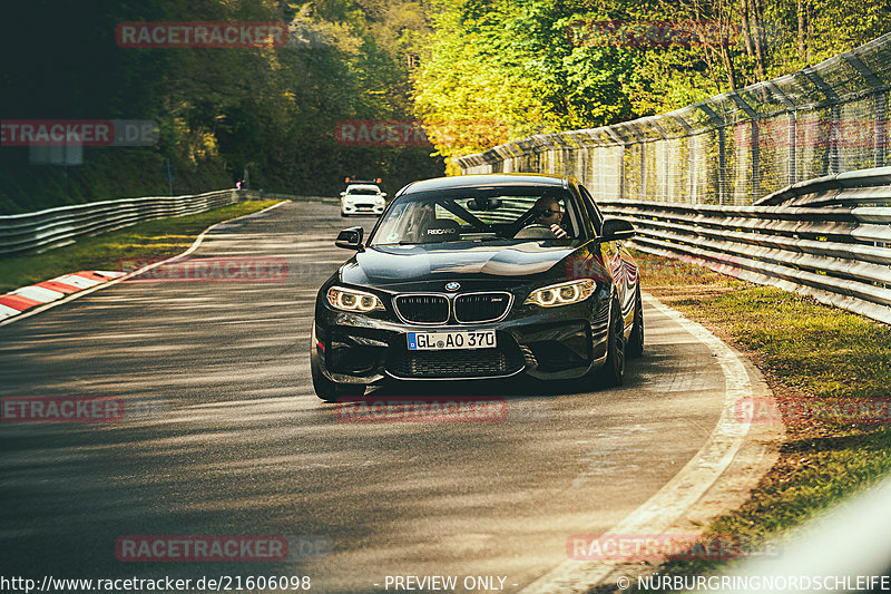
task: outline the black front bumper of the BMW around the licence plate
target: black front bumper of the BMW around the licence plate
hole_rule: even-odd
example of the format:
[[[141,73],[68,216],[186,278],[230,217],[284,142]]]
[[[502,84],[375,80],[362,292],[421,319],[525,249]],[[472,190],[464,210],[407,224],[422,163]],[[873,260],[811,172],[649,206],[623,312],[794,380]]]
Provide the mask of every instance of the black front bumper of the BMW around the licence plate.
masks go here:
[[[473,380],[520,373],[574,379],[606,360],[607,299],[542,310],[533,315],[480,324],[418,325],[316,309],[313,354],[320,370],[341,383],[396,380]],[[495,330],[497,347],[409,351],[408,332]]]

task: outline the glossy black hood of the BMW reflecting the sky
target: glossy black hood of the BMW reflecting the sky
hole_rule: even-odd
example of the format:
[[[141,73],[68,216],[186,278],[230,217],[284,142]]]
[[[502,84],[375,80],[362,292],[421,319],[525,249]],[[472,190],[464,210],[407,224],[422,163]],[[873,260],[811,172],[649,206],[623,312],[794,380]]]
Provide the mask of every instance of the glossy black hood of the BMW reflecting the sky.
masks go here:
[[[567,245],[566,241],[378,246],[358,253],[341,267],[340,275],[343,282],[359,285],[529,276],[547,272],[578,246],[578,242]]]

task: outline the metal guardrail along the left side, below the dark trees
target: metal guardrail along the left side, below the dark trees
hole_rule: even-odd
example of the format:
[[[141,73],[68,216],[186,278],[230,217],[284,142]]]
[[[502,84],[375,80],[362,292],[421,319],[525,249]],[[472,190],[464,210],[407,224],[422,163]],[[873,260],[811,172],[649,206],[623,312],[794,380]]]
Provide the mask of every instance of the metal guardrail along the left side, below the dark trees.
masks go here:
[[[202,213],[261,197],[255,192],[221,189],[187,196],[156,196],[60,206],[0,216],[0,256],[40,253],[139,222]]]

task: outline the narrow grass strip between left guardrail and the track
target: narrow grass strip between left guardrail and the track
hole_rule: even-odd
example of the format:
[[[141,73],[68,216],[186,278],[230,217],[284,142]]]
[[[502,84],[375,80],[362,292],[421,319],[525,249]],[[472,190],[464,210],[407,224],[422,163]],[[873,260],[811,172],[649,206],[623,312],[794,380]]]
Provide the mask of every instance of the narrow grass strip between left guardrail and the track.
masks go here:
[[[268,208],[281,201],[242,202],[205,213],[159,218],[42,254],[0,259],[0,294],[80,270],[120,270],[121,260],[164,259],[186,250],[208,226]]]

